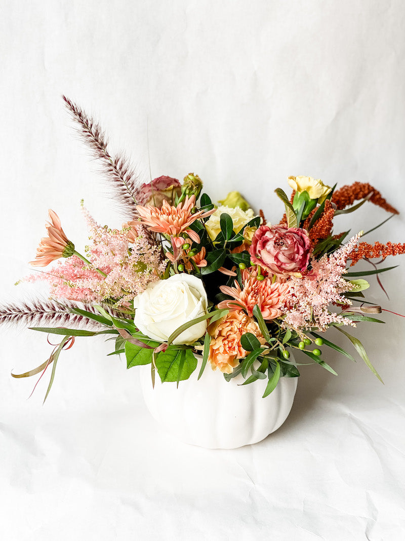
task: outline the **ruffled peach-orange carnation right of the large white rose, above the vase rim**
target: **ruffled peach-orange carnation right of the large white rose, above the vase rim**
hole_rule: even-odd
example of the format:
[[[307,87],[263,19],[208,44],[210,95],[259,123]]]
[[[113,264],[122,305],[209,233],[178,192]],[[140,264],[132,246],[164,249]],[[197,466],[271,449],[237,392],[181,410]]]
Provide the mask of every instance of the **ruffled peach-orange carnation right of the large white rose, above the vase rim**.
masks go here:
[[[219,370],[231,374],[238,366],[239,359],[246,357],[247,351],[242,348],[240,339],[242,334],[252,333],[265,344],[259,325],[243,312],[230,312],[224,319],[215,321],[208,327],[211,335],[210,353],[208,360],[212,370]]]

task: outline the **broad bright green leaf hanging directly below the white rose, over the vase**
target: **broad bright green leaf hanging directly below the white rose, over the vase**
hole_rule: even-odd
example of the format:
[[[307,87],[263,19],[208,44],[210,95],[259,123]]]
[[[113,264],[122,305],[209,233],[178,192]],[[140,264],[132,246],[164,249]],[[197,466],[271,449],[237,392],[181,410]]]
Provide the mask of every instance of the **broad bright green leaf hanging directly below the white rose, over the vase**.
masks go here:
[[[180,364],[182,364],[181,370]],[[156,368],[162,383],[183,381],[190,378],[190,375],[197,368],[197,359],[191,349],[177,349],[176,346],[169,346],[166,351],[158,354]]]

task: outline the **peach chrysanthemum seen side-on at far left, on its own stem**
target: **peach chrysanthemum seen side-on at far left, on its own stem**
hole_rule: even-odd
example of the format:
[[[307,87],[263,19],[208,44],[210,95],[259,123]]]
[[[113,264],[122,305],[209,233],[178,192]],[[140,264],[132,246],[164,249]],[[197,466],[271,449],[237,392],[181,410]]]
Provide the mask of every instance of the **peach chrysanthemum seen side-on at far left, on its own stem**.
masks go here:
[[[65,235],[56,212],[49,209],[50,223],[46,223],[48,236],[40,240],[37,255],[30,265],[33,267],[46,267],[59,258],[70,258],[75,252],[75,245]]]

